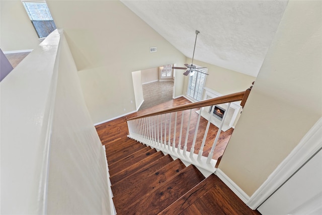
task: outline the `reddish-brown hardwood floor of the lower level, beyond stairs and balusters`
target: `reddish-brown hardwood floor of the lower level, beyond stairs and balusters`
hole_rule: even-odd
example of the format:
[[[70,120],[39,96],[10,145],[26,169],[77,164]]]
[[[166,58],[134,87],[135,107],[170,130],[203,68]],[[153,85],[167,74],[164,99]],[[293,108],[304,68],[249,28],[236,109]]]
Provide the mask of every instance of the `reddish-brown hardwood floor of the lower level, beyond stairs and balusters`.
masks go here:
[[[176,106],[188,104],[188,103],[191,103],[191,102],[184,97],[180,97],[178,99],[174,99],[172,101],[138,111],[136,113],[127,115],[125,117],[121,117],[121,118],[97,125],[96,129],[97,129],[97,132],[101,138],[103,145],[105,145],[106,142],[117,141],[120,138],[124,138],[128,134],[127,123],[125,120],[126,118],[140,116],[145,113],[150,113],[151,111],[165,110],[167,108],[176,107]],[[195,112],[197,110],[198,109],[194,109],[192,111],[191,125],[190,125],[189,131],[188,131],[189,132],[188,144],[187,144],[188,151],[190,151],[190,147],[192,145],[192,141],[194,138],[195,125],[196,125],[196,122],[198,119],[198,114]],[[189,113],[190,113],[189,110],[185,111],[184,122],[188,121]],[[173,114],[172,115],[172,129],[174,128],[174,121],[175,121],[174,117],[175,117],[175,115]],[[181,113],[178,113],[177,129],[176,129],[176,133],[177,133],[176,134],[176,147],[178,146],[178,142],[179,142],[180,123],[181,123]],[[198,135],[197,135],[195,151],[194,151],[195,154],[198,154],[199,149],[201,147],[202,139],[204,136],[204,132],[201,132],[201,131],[205,130],[207,123],[208,123],[208,121],[206,119],[204,119],[203,117],[200,118],[200,124],[199,124]],[[203,156],[208,156],[208,154],[211,150],[213,141],[216,137],[217,131],[218,131],[218,128],[215,125],[210,124],[208,135],[206,138],[206,144],[203,149]],[[217,160],[223,154],[223,152],[228,144],[228,140],[232,134],[232,131],[233,131],[233,128],[230,128],[225,132],[221,131],[215,151],[214,151],[214,154],[213,154],[213,157],[212,157],[213,159]],[[186,132],[187,132],[187,130],[183,129],[183,132],[182,132],[183,139],[181,141],[181,149],[183,149],[183,147],[184,147],[184,140],[185,140],[184,138],[186,136]],[[171,142],[173,142],[173,139],[171,139]]]

